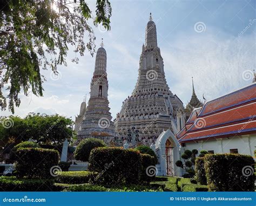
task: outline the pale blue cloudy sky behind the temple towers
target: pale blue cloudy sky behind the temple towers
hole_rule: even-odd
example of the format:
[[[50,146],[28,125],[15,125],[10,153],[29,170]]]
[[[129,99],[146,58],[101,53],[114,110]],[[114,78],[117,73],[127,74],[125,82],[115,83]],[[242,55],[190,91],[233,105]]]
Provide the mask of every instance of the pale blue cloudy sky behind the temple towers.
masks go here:
[[[96,1],[87,1],[95,10]],[[97,48],[103,38],[107,52],[110,112],[113,119],[122,102],[131,95],[138,78],[139,56],[145,42],[150,12],[157,26],[157,40],[167,84],[184,106],[192,95],[192,80],[197,97],[212,100],[250,85],[256,65],[256,1],[126,1],[110,0],[111,30],[91,24]],[[95,12],[94,12],[95,13]],[[85,42],[88,41],[85,35]],[[77,54],[79,55],[79,54]],[[59,76],[43,71],[43,97],[21,94],[21,106],[15,115],[29,112],[64,115],[75,120],[87,94],[95,67],[95,56],[85,52],[79,63],[72,63],[72,48],[66,57],[68,66],[59,66]],[[6,94],[6,93],[5,93]],[[0,115],[11,112],[0,111]]]

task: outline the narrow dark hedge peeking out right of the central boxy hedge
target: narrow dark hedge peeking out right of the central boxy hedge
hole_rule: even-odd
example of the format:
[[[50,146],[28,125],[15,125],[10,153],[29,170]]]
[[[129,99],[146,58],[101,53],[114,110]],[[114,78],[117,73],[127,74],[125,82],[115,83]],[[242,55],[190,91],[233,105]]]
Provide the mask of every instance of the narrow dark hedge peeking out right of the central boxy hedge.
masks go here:
[[[140,174],[140,182],[149,183],[156,177],[156,161],[149,154],[140,154],[142,157],[142,171]]]

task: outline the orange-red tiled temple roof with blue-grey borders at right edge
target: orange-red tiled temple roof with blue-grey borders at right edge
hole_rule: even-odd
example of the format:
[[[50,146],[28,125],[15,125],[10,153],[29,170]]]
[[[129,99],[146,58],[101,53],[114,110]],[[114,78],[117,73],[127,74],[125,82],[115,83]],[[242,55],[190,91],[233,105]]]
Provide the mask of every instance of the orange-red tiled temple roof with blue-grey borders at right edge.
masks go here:
[[[194,109],[179,142],[256,133],[256,83],[231,92]]]

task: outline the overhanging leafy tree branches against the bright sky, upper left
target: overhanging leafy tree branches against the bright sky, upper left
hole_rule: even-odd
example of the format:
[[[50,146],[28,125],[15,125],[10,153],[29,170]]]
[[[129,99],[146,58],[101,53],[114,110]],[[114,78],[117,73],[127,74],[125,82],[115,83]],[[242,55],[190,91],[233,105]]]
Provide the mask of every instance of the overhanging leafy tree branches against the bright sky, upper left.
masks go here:
[[[6,108],[8,98],[12,113],[21,103],[20,92],[28,95],[31,88],[33,94],[43,95],[46,79],[41,69],[50,68],[57,74],[57,65],[66,66],[70,45],[81,56],[86,49],[93,55],[96,37],[89,21],[93,20],[95,26],[102,23],[109,30],[112,12],[109,0],[96,1],[95,17],[85,0],[2,0],[0,8],[0,70],[5,70],[0,82],[0,107]],[[78,58],[72,61],[77,63]],[[10,86],[5,97],[1,89],[6,83]]]

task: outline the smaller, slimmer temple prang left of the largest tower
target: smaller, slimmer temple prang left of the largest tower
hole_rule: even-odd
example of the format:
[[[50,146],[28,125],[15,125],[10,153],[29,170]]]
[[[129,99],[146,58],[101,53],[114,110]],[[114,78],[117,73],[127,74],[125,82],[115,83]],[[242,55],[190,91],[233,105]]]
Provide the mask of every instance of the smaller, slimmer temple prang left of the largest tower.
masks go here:
[[[106,73],[106,50],[103,43],[98,49],[95,60],[95,71],[91,80],[91,92],[83,121],[78,129],[78,140],[83,138],[102,139],[108,145],[113,139],[114,126],[107,100],[109,84]]]

